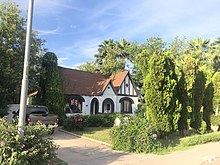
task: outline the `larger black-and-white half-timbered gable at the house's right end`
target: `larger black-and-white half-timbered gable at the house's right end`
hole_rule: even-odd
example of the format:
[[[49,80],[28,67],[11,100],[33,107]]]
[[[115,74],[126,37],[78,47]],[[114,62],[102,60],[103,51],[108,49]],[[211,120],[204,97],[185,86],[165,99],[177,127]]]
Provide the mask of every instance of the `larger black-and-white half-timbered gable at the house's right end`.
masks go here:
[[[119,90],[118,90],[119,95],[130,95],[130,96],[137,96],[137,91],[135,88],[135,85],[133,81],[131,80],[131,77],[129,74],[125,77],[123,80]]]

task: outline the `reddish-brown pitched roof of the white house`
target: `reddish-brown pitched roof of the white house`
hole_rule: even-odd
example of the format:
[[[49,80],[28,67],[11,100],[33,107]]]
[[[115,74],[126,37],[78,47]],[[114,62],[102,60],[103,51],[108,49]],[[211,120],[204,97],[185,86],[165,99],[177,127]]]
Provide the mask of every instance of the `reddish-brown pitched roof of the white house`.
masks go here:
[[[63,80],[64,94],[95,96],[102,95],[107,85],[111,82],[117,91],[128,71],[116,75],[104,76],[101,73],[91,73],[76,69],[59,67]]]

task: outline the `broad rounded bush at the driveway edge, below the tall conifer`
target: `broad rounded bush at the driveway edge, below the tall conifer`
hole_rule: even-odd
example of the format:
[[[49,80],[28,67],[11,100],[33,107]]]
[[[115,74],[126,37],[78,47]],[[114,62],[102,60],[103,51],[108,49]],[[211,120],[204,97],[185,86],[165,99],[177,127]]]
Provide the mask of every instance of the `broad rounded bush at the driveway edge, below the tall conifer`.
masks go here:
[[[120,124],[111,130],[113,149],[130,152],[154,152],[161,149],[157,129],[145,117],[120,117]]]

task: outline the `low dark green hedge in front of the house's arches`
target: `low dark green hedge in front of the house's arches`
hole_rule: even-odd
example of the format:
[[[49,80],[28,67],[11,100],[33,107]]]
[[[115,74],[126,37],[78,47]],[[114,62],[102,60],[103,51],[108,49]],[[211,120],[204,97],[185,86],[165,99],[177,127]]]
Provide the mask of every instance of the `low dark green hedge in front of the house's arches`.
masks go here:
[[[88,127],[112,127],[116,116],[116,114],[96,114],[83,116],[83,119]]]

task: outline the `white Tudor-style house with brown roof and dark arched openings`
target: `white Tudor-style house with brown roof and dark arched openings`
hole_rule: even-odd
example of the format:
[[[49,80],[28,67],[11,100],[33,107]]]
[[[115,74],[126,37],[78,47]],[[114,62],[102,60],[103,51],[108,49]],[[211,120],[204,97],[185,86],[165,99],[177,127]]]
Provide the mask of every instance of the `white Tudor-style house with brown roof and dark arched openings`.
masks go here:
[[[66,99],[65,110],[91,115],[137,110],[138,94],[128,71],[112,76],[59,67]]]

